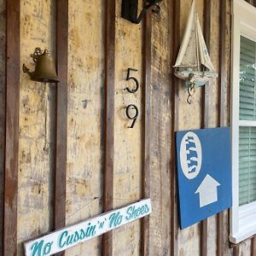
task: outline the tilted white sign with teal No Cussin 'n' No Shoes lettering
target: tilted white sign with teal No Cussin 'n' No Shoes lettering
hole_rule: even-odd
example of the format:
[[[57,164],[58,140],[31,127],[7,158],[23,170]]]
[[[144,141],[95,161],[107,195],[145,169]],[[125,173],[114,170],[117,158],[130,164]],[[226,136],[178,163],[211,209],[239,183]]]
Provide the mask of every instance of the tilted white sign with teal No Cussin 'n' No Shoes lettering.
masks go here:
[[[52,255],[150,214],[150,199],[103,213],[24,244],[26,256]]]

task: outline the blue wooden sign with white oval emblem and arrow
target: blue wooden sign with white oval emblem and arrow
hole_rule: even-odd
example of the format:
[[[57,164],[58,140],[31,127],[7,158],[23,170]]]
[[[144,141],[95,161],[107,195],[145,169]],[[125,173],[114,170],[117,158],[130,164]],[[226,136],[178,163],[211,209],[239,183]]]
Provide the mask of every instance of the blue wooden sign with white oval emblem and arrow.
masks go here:
[[[181,229],[232,206],[230,129],[177,131]]]

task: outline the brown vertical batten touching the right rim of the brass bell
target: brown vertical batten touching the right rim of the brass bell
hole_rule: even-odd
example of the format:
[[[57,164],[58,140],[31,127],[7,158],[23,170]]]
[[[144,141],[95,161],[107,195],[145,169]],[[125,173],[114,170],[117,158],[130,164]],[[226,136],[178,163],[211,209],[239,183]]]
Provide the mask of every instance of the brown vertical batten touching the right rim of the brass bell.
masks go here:
[[[66,177],[67,177],[67,45],[68,1],[57,1],[56,9],[57,73],[55,126],[55,209],[54,228],[66,224]],[[64,253],[60,253],[63,255]]]

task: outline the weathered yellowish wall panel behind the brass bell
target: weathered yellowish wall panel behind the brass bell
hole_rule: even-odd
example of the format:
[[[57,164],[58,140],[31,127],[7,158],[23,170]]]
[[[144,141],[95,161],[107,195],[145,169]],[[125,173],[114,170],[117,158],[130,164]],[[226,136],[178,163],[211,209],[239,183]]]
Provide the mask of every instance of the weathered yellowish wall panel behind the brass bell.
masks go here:
[[[33,70],[36,47],[55,56],[55,1],[21,1],[20,20],[20,63]],[[23,241],[52,230],[55,153],[55,84],[20,75],[18,254]]]

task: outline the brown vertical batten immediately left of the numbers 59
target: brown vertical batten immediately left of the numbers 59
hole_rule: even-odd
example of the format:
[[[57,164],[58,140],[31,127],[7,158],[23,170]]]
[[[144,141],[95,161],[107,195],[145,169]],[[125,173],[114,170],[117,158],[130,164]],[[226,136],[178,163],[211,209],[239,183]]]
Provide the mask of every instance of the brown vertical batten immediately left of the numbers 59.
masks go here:
[[[115,0],[105,2],[105,137],[103,211],[113,209]],[[102,237],[102,255],[113,254],[113,232]]]

